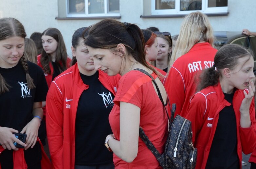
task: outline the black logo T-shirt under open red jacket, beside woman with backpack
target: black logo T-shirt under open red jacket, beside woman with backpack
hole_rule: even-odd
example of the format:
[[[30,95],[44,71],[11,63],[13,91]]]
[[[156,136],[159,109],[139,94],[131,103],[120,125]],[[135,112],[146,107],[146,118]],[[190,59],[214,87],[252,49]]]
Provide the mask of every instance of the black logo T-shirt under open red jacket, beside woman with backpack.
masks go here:
[[[111,131],[108,115],[114,95],[99,81],[99,72],[92,76],[80,73],[89,88],[80,96],[75,123],[75,164],[101,165],[113,161],[113,154],[104,146]]]

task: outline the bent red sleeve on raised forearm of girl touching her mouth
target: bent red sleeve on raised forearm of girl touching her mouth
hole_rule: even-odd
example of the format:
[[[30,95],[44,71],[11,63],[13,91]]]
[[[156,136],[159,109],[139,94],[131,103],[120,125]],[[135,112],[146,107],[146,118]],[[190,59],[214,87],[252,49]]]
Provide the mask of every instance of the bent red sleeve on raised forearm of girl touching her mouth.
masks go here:
[[[252,153],[256,148],[256,121],[255,121],[255,109],[254,109],[254,98],[250,105],[250,119],[251,127],[240,128],[240,139],[242,144],[242,150],[245,154]]]

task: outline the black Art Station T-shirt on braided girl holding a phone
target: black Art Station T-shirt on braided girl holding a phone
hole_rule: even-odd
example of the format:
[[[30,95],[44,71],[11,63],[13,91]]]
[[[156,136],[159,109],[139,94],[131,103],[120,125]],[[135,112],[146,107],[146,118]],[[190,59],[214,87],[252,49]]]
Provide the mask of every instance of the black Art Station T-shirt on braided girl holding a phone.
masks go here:
[[[0,126],[10,127],[19,132],[33,119],[33,103],[46,100],[48,91],[44,72],[34,63],[28,61],[29,74],[36,86],[34,89],[29,89],[26,80],[26,74],[21,63],[16,66],[5,69],[0,67],[0,73],[5,81],[10,85],[9,92],[0,94]],[[38,144],[39,145],[39,144]],[[40,145],[39,145],[40,148]],[[25,150],[25,159],[28,165],[38,162],[41,159],[41,154],[36,155],[36,148]],[[27,161],[26,157],[31,154],[31,161]],[[10,156],[9,156],[10,155]],[[7,160],[7,157],[10,159]],[[30,159],[30,158],[28,158]],[[12,161],[12,150],[5,150],[0,156],[1,165],[3,161]]]

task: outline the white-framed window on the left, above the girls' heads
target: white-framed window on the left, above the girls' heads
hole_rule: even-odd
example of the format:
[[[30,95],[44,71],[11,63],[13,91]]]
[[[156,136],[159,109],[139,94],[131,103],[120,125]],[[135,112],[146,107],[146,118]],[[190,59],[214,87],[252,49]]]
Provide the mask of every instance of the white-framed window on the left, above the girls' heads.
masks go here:
[[[67,0],[67,17],[119,16],[119,0]]]

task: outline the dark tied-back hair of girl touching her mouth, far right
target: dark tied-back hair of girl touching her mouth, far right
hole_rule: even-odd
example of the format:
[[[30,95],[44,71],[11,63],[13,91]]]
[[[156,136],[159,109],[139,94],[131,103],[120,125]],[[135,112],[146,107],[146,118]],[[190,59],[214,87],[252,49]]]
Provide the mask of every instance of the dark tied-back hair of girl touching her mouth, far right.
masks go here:
[[[238,44],[226,44],[222,46],[214,57],[214,66],[204,70],[200,76],[198,91],[217,85],[219,78],[222,77],[220,70],[229,68],[234,69],[238,64],[238,59],[253,57],[253,52]]]

